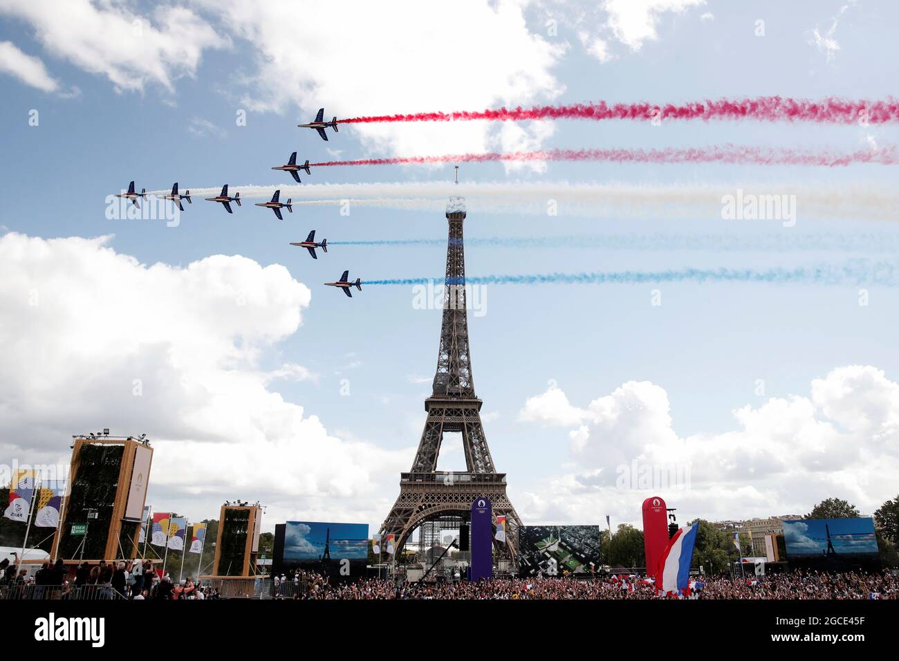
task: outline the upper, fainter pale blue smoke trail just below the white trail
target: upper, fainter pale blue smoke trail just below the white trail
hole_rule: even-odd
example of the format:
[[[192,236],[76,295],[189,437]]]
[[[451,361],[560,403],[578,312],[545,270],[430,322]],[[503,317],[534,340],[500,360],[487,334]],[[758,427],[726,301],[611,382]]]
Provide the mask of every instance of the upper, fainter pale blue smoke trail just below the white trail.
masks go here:
[[[375,239],[331,241],[329,246],[446,246],[445,238]],[[611,234],[569,237],[468,237],[466,246],[506,248],[573,247],[609,250],[701,250],[706,252],[757,251],[867,251],[899,252],[899,234],[799,234],[784,232],[766,235],[727,234]]]

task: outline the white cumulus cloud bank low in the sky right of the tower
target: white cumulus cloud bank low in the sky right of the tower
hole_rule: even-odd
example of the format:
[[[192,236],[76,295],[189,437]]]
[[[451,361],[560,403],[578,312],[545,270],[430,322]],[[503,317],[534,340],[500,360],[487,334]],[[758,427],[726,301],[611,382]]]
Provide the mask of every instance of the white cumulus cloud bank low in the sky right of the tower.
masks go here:
[[[526,401],[521,418],[567,428],[574,465],[524,494],[520,514],[639,523],[644,498],[659,495],[687,519],[720,520],[805,514],[831,496],[873,512],[895,496],[899,383],[884,371],[837,368],[812,380],[807,395],[733,414],[731,431],[681,436],[667,393],[653,383],[629,381],[583,408],[551,387]]]

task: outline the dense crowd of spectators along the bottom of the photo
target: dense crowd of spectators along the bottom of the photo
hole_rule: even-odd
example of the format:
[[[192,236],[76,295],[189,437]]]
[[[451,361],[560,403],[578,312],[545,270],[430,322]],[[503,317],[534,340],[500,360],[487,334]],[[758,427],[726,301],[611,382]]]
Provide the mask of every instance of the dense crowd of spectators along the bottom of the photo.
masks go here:
[[[13,562],[0,562],[0,599],[216,599],[218,589],[175,582],[150,560],[84,562],[68,576],[62,560],[44,563],[33,576]],[[267,579],[266,579],[267,580]],[[267,588],[266,588],[267,589]],[[332,583],[303,570],[271,578],[276,599],[899,599],[899,575],[891,572],[792,571],[769,576],[695,576],[681,594],[662,594],[637,574],[495,578],[493,580],[396,583],[361,578]]]

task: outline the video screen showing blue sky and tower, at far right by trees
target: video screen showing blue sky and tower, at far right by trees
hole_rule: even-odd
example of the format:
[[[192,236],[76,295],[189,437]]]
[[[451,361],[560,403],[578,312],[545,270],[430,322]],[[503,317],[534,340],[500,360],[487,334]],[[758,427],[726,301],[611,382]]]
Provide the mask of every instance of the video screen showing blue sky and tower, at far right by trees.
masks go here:
[[[877,564],[877,536],[870,517],[785,521],[790,562],[810,567],[850,568]]]

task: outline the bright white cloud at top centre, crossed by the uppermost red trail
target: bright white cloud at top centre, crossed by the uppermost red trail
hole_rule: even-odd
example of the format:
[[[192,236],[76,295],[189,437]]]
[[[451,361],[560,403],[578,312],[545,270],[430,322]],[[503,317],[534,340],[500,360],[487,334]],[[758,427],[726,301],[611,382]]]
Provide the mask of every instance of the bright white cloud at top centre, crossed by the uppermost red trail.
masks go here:
[[[244,103],[257,111],[290,111],[309,121],[320,106],[346,117],[423,111],[481,110],[498,104],[550,101],[562,92],[551,69],[565,46],[525,23],[513,0],[442,4],[404,0],[298,4],[225,0],[200,4],[223,17],[258,49]],[[335,16],[350,15],[338,22]],[[343,130],[343,129],[342,129]],[[353,125],[372,150],[399,155],[459,153],[527,141],[491,122]],[[530,130],[539,142],[547,129]]]

